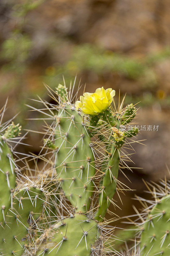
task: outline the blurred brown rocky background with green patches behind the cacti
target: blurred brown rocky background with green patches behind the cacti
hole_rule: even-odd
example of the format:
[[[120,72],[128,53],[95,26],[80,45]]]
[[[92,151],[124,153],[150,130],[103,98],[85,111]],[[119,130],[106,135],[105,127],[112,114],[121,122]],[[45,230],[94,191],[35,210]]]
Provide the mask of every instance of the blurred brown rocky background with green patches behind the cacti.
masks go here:
[[[86,91],[112,87],[116,100],[138,103],[140,131],[134,144],[133,173],[126,171],[135,192],[123,198],[123,213],[131,213],[131,197],[143,195],[145,180],[168,176],[170,166],[170,2],[168,0],[1,0],[0,107],[9,96],[6,119],[18,112],[25,129],[41,131],[42,122],[25,104],[50,101],[43,83],[55,89],[62,75],[69,85]],[[76,88],[75,88],[76,91]],[[81,92],[82,93],[82,92]],[[152,130],[149,130],[149,125]],[[158,126],[158,131],[154,130]],[[142,141],[145,140],[146,141]],[[39,152],[40,136],[30,134],[23,151]],[[145,146],[142,145],[145,144]],[[128,198],[128,200],[127,200]],[[133,202],[135,203],[135,202]]]

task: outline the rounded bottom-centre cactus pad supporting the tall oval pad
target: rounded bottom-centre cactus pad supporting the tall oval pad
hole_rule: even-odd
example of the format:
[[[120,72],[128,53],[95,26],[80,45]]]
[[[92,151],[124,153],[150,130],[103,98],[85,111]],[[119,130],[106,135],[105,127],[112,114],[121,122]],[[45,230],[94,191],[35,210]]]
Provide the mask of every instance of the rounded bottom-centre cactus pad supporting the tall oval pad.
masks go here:
[[[36,256],[43,255],[43,252],[49,256],[88,256],[98,236],[97,223],[85,215],[75,214],[47,230],[46,236],[46,242],[40,243]]]

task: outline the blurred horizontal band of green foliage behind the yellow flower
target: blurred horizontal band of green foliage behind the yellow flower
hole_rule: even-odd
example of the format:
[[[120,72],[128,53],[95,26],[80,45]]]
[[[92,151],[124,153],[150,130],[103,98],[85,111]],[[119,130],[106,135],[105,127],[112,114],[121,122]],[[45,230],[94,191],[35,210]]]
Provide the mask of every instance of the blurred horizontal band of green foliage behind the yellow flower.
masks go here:
[[[53,79],[62,73],[66,78],[84,72],[90,72],[99,77],[113,73],[113,75],[137,80],[142,87],[152,88],[157,85],[157,74],[154,71],[154,66],[169,57],[169,47],[159,53],[137,60],[125,54],[107,51],[91,44],[76,45],[72,49],[72,54],[67,62],[64,65],[57,63],[48,67],[43,79],[47,84],[53,85]]]

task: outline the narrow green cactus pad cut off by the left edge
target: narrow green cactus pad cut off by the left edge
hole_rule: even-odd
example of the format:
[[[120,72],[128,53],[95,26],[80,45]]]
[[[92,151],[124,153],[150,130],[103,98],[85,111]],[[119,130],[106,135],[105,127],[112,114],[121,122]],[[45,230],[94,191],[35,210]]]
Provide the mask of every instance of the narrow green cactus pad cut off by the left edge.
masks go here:
[[[5,220],[8,208],[11,207],[16,185],[14,167],[11,151],[0,136],[0,223]]]

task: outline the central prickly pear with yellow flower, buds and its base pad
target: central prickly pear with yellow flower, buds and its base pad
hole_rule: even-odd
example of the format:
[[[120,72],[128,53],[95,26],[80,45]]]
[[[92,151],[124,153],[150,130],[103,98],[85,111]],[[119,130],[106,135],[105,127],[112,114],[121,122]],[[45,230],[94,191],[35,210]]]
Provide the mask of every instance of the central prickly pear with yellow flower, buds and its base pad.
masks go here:
[[[119,106],[117,113],[111,108],[112,89],[84,93],[75,105],[65,86],[60,84],[56,95],[58,114],[51,116],[55,123],[48,128],[44,148],[53,150],[51,189],[60,220],[37,240],[37,255],[112,255],[105,242],[105,214],[116,192],[119,149],[128,143],[119,130],[124,109]]]

